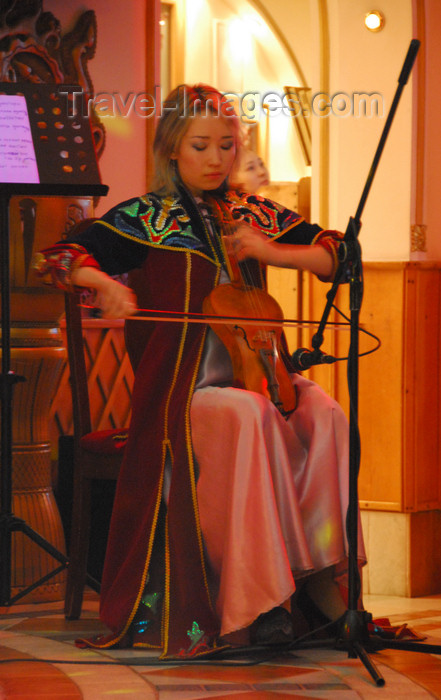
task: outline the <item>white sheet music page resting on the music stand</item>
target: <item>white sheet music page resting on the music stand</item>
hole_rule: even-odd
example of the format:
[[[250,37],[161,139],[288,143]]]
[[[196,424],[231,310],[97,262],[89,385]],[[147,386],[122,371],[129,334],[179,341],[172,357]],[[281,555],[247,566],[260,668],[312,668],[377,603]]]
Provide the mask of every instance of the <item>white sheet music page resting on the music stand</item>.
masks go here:
[[[0,95],[0,182],[40,182],[23,95]]]

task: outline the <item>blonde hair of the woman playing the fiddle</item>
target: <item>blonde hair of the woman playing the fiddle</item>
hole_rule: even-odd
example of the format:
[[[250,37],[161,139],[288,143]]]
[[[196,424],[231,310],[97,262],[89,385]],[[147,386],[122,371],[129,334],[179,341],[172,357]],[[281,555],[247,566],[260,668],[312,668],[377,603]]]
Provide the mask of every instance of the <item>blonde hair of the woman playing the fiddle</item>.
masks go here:
[[[179,182],[176,161],[172,154],[179,151],[190,120],[199,115],[214,114],[231,120],[236,144],[240,141],[239,119],[231,102],[216,88],[202,83],[179,85],[166,97],[153,141],[155,174],[152,189],[160,194],[176,192]]]

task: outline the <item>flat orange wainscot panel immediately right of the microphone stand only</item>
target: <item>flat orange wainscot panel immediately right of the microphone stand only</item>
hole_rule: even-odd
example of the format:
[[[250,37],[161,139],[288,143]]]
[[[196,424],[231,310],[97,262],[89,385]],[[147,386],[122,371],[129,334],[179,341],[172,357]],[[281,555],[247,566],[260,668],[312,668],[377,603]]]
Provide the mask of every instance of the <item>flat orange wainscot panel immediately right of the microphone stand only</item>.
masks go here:
[[[381,347],[360,359],[359,497],[362,507],[379,510],[403,508],[403,273],[402,263],[364,268],[361,323]]]

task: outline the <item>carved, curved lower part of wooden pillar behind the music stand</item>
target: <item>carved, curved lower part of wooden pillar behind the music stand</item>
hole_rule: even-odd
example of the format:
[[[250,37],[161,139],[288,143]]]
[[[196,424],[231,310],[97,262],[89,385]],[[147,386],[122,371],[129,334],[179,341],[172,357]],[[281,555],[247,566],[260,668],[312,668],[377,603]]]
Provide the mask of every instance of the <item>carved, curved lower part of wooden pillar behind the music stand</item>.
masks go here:
[[[13,328],[11,369],[16,384],[12,415],[12,512],[65,553],[64,532],[52,487],[48,412],[66,352],[58,328]],[[3,466],[3,465],[2,465]],[[59,563],[20,532],[11,541],[11,598],[53,571]],[[23,602],[60,600],[63,571],[28,593]]]

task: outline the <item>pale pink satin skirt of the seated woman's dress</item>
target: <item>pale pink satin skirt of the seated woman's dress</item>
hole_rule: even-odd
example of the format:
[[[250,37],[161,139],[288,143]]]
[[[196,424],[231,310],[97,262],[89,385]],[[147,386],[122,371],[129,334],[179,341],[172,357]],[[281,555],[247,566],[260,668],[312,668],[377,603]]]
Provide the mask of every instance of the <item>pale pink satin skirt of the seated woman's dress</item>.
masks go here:
[[[207,348],[191,431],[199,517],[226,635],[281,605],[300,577],[345,570],[348,423],[301,375],[293,375],[298,405],[288,420],[264,396],[214,385],[228,374],[229,358],[222,370],[222,349],[212,338]],[[365,561],[361,527],[358,557]]]

